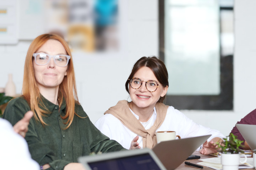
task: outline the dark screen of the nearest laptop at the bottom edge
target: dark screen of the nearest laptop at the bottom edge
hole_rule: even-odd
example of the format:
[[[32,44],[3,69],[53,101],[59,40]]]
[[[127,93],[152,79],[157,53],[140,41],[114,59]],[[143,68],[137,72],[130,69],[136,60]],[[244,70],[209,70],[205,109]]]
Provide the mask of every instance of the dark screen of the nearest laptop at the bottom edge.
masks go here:
[[[149,153],[88,164],[92,170],[160,170]]]

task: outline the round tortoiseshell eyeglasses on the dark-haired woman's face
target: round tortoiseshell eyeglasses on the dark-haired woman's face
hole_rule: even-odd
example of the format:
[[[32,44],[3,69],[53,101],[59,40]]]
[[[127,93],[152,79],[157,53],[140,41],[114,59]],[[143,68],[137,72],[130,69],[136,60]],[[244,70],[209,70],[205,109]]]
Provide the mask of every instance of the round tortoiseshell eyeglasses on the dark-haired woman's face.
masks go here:
[[[142,86],[142,80],[140,80],[139,78],[132,78],[132,79],[128,79],[130,80],[130,86],[133,88],[133,89],[139,89],[141,86]],[[154,92],[156,91],[157,87],[161,84],[158,84],[156,81],[154,80],[148,80],[148,81],[144,81],[145,82],[145,86],[146,86],[146,89],[150,92]]]

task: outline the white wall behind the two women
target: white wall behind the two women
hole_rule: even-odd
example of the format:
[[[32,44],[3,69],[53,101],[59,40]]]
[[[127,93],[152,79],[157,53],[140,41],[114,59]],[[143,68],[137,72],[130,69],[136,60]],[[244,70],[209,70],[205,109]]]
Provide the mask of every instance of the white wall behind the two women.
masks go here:
[[[126,100],[124,83],[142,56],[158,55],[158,2],[120,0],[121,50],[118,53],[73,53],[79,100],[94,123],[118,100]],[[182,111],[195,122],[228,135],[237,121],[255,109],[256,1],[235,0],[234,111]],[[20,22],[22,23],[22,22]],[[29,31],[29,30],[28,30]],[[26,52],[31,41],[0,45],[0,87],[13,74],[21,93]],[[108,82],[115,82],[112,87]],[[175,107],[175,106],[174,106]]]

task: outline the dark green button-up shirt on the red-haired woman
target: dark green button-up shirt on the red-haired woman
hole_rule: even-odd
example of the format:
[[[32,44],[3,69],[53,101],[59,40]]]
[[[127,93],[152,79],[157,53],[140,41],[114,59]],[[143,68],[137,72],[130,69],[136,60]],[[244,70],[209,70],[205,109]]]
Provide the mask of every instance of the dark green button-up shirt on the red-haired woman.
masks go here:
[[[78,162],[78,157],[90,153],[106,153],[124,149],[118,142],[109,140],[90,121],[81,105],[75,105],[74,120],[70,127],[64,130],[65,125],[61,117],[65,114],[66,103],[55,105],[42,96],[43,103],[51,112],[43,117],[47,125],[42,125],[32,117],[28,125],[26,141],[31,157],[40,165],[50,164],[50,169],[64,169],[71,162]],[[11,100],[4,112],[3,118],[12,125],[24,117],[30,106],[23,97]]]

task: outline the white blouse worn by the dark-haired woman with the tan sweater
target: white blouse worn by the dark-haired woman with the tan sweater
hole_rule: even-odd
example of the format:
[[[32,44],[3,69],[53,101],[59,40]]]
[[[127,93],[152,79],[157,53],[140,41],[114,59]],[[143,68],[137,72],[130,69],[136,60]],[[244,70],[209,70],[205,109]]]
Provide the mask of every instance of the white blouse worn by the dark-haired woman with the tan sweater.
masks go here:
[[[130,111],[139,120],[139,116],[136,115],[131,109]],[[154,113],[147,122],[141,122],[145,129],[149,129],[155,122],[156,109],[154,107]],[[130,131],[124,126],[119,119],[112,114],[105,114],[95,123],[95,126],[106,136],[112,140],[116,140],[124,148],[129,149],[130,144],[137,134]],[[208,138],[210,141],[214,137],[224,138],[218,130],[213,130],[197,123],[194,123],[191,119],[187,118],[183,113],[169,106],[167,109],[166,117],[162,125],[156,131],[176,131],[176,135],[181,138],[212,135]],[[143,148],[142,137],[139,136],[137,141],[139,146]],[[201,146],[202,147],[202,146]],[[199,147],[198,149],[200,149]]]

